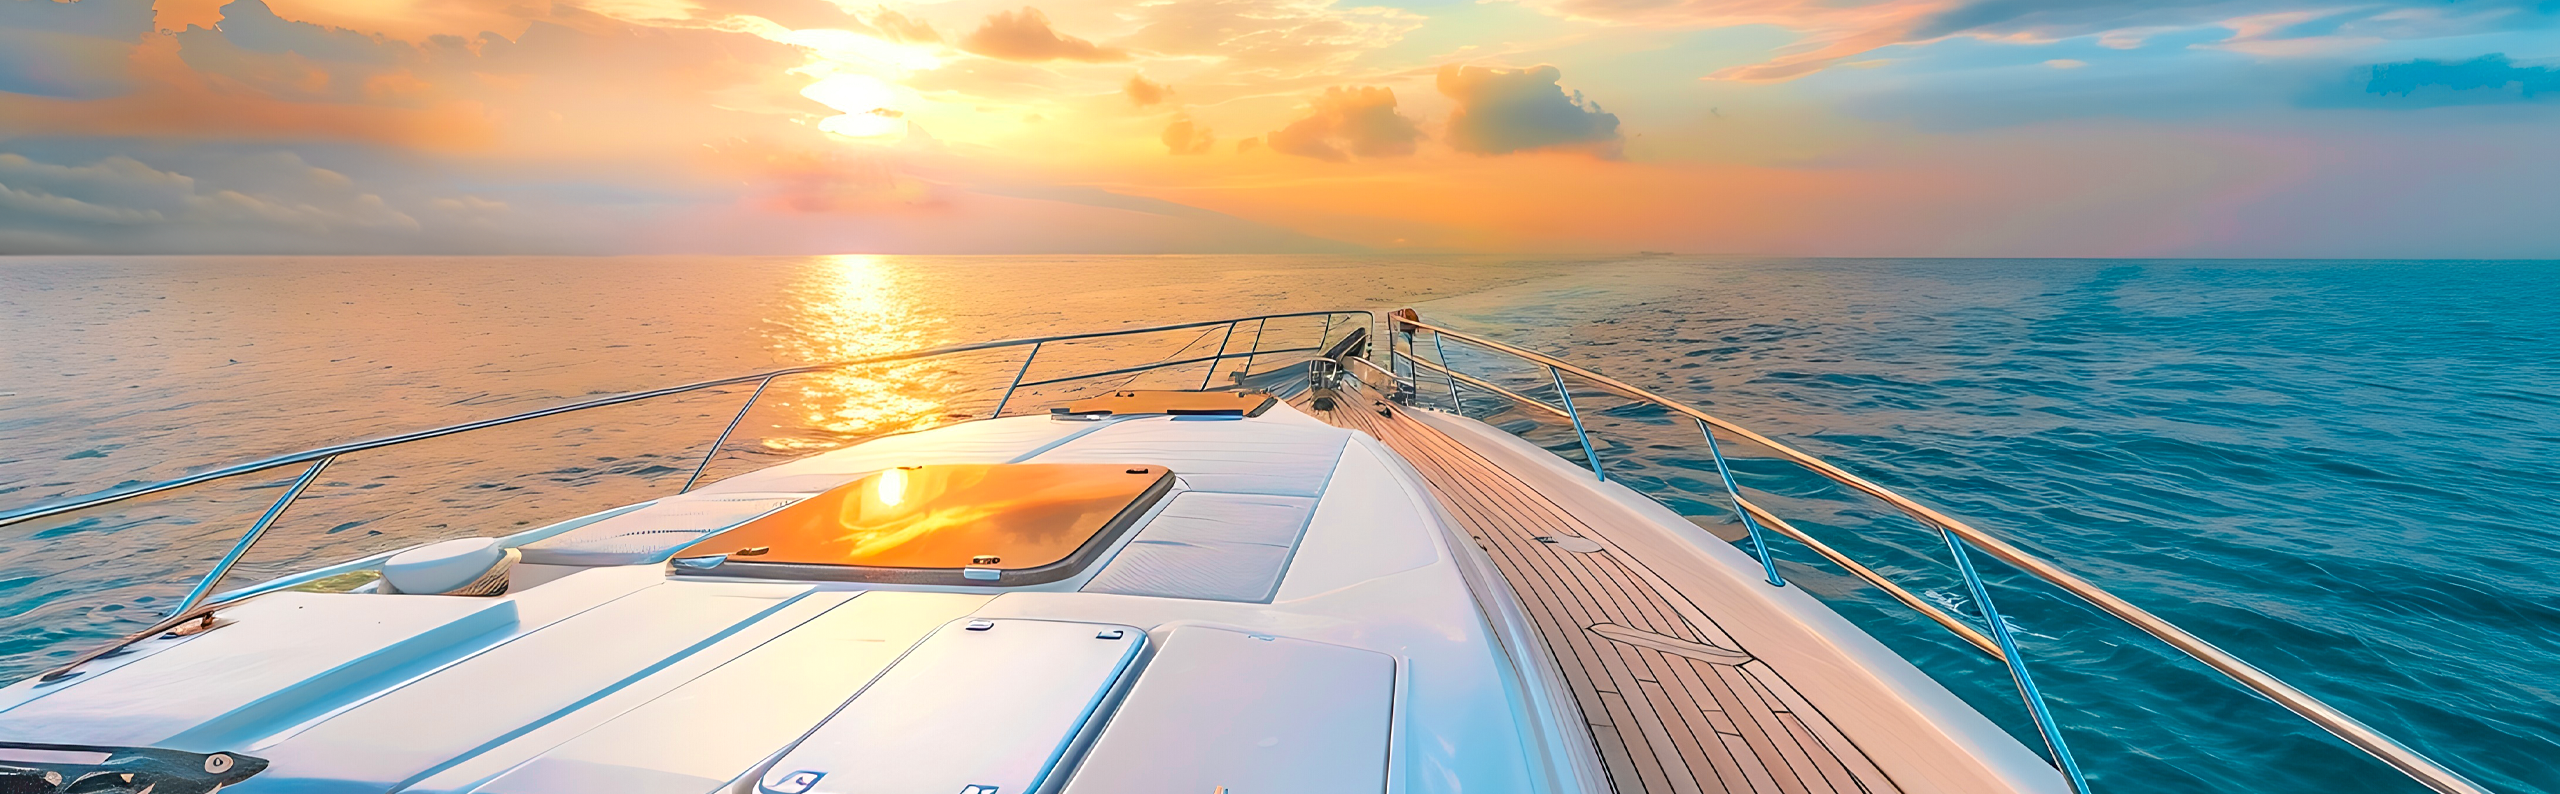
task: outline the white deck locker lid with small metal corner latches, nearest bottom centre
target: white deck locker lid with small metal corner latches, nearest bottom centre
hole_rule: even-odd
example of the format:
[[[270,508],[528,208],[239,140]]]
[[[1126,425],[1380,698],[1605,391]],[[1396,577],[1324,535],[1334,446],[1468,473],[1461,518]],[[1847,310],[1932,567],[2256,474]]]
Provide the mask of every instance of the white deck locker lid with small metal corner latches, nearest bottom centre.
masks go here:
[[[1144,648],[1129,625],[950,622],[783,750],[758,791],[1039,791]]]

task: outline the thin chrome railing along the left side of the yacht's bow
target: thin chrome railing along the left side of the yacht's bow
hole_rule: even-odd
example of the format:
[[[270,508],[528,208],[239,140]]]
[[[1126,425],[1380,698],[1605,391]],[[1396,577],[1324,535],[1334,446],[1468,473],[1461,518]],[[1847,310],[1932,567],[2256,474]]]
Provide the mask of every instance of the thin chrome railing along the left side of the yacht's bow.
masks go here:
[[[1316,343],[1313,346],[1293,346],[1293,348],[1262,348],[1262,330],[1265,330],[1265,325],[1270,320],[1293,320],[1293,318],[1324,318],[1324,330],[1316,338]],[[1336,325],[1334,323],[1336,318],[1359,318],[1359,320],[1357,323],[1339,323]],[[1242,323],[1254,323],[1252,343],[1244,351],[1239,351],[1239,353],[1229,353],[1229,343],[1236,338],[1236,328]],[[271,471],[271,469],[287,469],[287,466],[307,464],[307,469],[302,469],[302,474],[284,489],[284,494],[279,494],[274,499],[274,505],[269,505],[266,512],[261,512],[259,520],[253,525],[248,525],[248,530],[241,533],[241,538],[230,546],[230,551],[223,553],[223,558],[212,563],[212,569],[205,574],[205,579],[200,579],[187,592],[187,597],[179,599],[177,610],[169,610],[169,615],[164,620],[154,622],[148,630],[125,635],[118,643],[110,643],[110,645],[102,645],[97,651],[82,653],[82,656],[72,658],[69,663],[56,666],[54,671],[44,674],[44,679],[59,679],[59,676],[79,668],[82,663],[87,663],[92,658],[113,653],[113,651],[118,651],[123,645],[131,645],[133,640],[164,633],[169,628],[187,625],[192,620],[207,620],[210,622],[215,607],[228,604],[228,602],[238,602],[238,599],[251,597],[251,594],[269,592],[271,587],[253,587],[253,589],[215,594],[215,587],[248,553],[248,548],[256,546],[266,535],[266,530],[276,525],[279,517],[284,517],[284,512],[294,505],[294,499],[302,497],[302,492],[320,476],[320,471],[325,471],[330,464],[335,464],[340,456],[348,456],[348,453],[392,448],[392,446],[417,443],[417,441],[428,441],[428,438],[461,435],[461,433],[474,433],[474,430],[489,430],[489,428],[515,425],[515,423],[525,423],[525,420],[556,417],[556,415],[568,415],[568,412],[581,412],[581,410],[596,410],[596,407],[627,405],[627,402],[645,402],[645,400],[658,400],[658,397],[673,397],[673,394],[689,394],[689,392],[704,392],[704,389],[735,387],[735,384],[753,382],[755,392],[748,394],[748,402],[737,407],[737,415],[732,415],[730,423],[719,430],[719,438],[712,441],[712,448],[704,451],[704,456],[701,456],[699,464],[694,464],[691,476],[686,476],[684,487],[678,489],[678,494],[681,494],[681,492],[691,492],[694,484],[701,482],[701,474],[712,466],[712,458],[719,456],[719,451],[727,446],[727,441],[737,430],[737,425],[748,420],[748,412],[755,407],[755,400],[763,397],[765,387],[771,387],[773,379],[781,379],[781,377],[1029,346],[1032,351],[1021,359],[1021,366],[1014,371],[1014,379],[1006,384],[1004,397],[996,402],[996,410],[991,412],[991,417],[996,417],[996,415],[1004,415],[1004,407],[1014,400],[1014,392],[1021,389],[1021,387],[1065,384],[1065,382],[1098,379],[1098,377],[1114,377],[1114,374],[1142,374],[1142,371],[1172,369],[1172,366],[1190,366],[1190,364],[1203,364],[1206,361],[1208,371],[1201,377],[1201,387],[1206,389],[1208,382],[1219,374],[1219,361],[1244,359],[1244,371],[1249,371],[1257,356],[1324,353],[1329,348],[1329,343],[1334,343],[1334,348],[1341,346],[1341,343],[1334,341],[1336,328],[1344,336],[1349,336],[1349,333],[1367,333],[1367,328],[1375,325],[1375,323],[1377,323],[1375,315],[1367,312],[1367,310],[1275,312],[1275,315],[1249,315],[1249,318],[1201,320],[1201,323],[1172,323],[1172,325],[1149,325],[1149,328],[1121,328],[1121,330],[1093,330],[1093,333],[1065,333],[1065,336],[978,341],[978,343],[957,343],[957,346],[937,346],[937,348],[916,348],[916,351],[863,356],[863,359],[850,359],[850,361],[786,366],[786,369],[771,369],[771,371],[758,371],[758,374],[740,374],[740,377],[694,382],[694,384],[666,387],[666,389],[648,389],[648,392],[596,397],[596,400],[584,400],[584,402],[571,402],[571,405],[556,405],[556,407],[530,410],[530,412],[494,417],[494,420],[461,423],[461,425],[445,425],[445,428],[430,428],[430,430],[384,435],[384,438],[371,438],[371,441],[335,443],[335,446],[310,448],[310,451],[300,451],[300,453],[284,453],[284,456],[271,456],[271,458],[259,458],[259,461],[246,461],[246,464],[230,464],[230,466],[220,466],[220,469],[210,469],[210,471],[200,471],[200,474],[187,474],[187,476],[177,476],[177,479],[164,479],[164,482],[151,482],[151,484],[138,484],[138,487],[120,487],[120,489],[110,489],[110,492],[97,492],[97,494],[87,494],[87,497],[72,497],[72,499],[33,505],[33,507],[5,510],[5,512],[0,512],[0,528],[18,525],[18,523],[31,523],[31,520],[44,520],[44,517],[56,517],[56,515],[72,515],[72,512],[82,512],[82,510],[95,510],[95,507],[105,507],[105,505],[115,505],[115,502],[125,502],[125,499],[136,499],[136,497],[177,492],[177,489],[187,489],[187,487],[197,487],[197,484],[210,484],[210,482],[223,482],[223,479],[233,479],[233,476],[246,476],[246,474],[259,474],[259,471]],[[1224,338],[1219,343],[1219,353],[1211,353],[1211,356],[1175,359],[1175,356],[1190,351],[1190,343],[1203,341],[1206,338],[1206,333],[1203,333],[1201,338],[1196,338],[1196,341],[1185,343],[1183,348],[1178,348],[1172,356],[1165,356],[1165,359],[1160,359],[1155,364],[1119,366],[1119,369],[1103,369],[1103,371],[1080,371],[1080,374],[1070,374],[1070,377],[1052,377],[1052,379],[1024,382],[1024,374],[1032,371],[1032,359],[1039,356],[1042,346],[1070,343],[1070,341],[1093,341],[1093,338],[1139,336],[1139,333],[1188,330],[1188,328],[1219,328],[1219,325],[1224,325]]]

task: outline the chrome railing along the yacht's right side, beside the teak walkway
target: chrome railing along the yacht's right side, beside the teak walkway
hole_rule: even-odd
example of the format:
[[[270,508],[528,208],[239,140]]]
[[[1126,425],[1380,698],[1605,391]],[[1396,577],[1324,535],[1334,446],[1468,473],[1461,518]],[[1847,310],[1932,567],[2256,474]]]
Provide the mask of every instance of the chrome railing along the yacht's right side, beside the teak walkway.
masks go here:
[[[1759,558],[1759,563],[1761,563],[1761,569],[1764,569],[1764,574],[1769,579],[1769,587],[1787,587],[1787,581],[1779,579],[1779,574],[1777,574],[1777,558],[1772,556],[1766,535],[1761,533],[1764,528],[1777,530],[1779,535],[1787,535],[1789,540],[1802,543],[1805,548],[1815,551],[1825,561],[1838,563],[1841,569],[1851,571],[1853,576],[1859,576],[1859,579],[1879,587],[1892,599],[1897,599],[1897,602],[1917,610],[1920,615],[1925,615],[1933,622],[1943,625],[1946,630],[1956,633],[1969,645],[1974,645],[1974,648],[1979,648],[1979,651],[1999,658],[2010,668],[2010,679],[2012,679],[2012,684],[2017,684],[2017,697],[2028,707],[2028,715],[2035,720],[2035,730],[2043,738],[2045,748],[2051,750],[2053,766],[2063,774],[2063,779],[2071,786],[2071,791],[2086,794],[2089,791],[2089,781],[2081,776],[2079,761],[2071,756],[2071,748],[2063,743],[2061,727],[2056,725],[2053,712],[2045,707],[2043,692],[2035,686],[2035,679],[2028,671],[2025,653],[2020,653],[2020,648],[2017,648],[2017,638],[2010,633],[2010,625],[1999,617],[1999,610],[1992,607],[1992,592],[1984,584],[1981,574],[1974,569],[1974,558],[1971,558],[1974,553],[1989,553],[1992,558],[1997,558],[2002,563],[2010,563],[2012,569],[2025,571],[2028,576],[2035,576],[2035,579],[2040,579],[2040,581],[2045,581],[2051,587],[2058,587],[2058,589],[2068,592],[2071,597],[2079,597],[2081,602],[2089,602],[2092,607],[2097,607],[2097,610],[2102,610],[2107,615],[2115,615],[2125,625],[2132,625],[2135,630],[2140,630],[2140,633],[2145,633],[2145,635],[2150,635],[2150,638],[2156,638],[2161,643],[2168,643],[2179,653],[2186,653],[2189,658],[2194,658],[2194,661],[2204,663],[2207,668],[2222,674],[2225,679],[2230,679],[2230,681],[2235,681],[2235,684],[2240,684],[2240,686],[2245,686],[2245,689],[2250,689],[2250,692],[2255,692],[2255,694],[2276,702],[2278,707],[2299,715],[2301,720],[2309,720],[2312,725],[2319,725],[2330,735],[2337,735],[2340,740],[2345,740],[2348,745],[2363,750],[2365,756],[2373,756],[2376,761],[2388,763],[2391,768],[2406,774],[2409,779],[2419,781],[2427,789],[2435,789],[2435,791],[2442,791],[2442,794],[2488,794],[2488,789],[2481,789],[2478,784],[2463,779],[2452,768],[2445,768],[2435,758],[2427,758],[2427,756],[2422,756],[2422,753],[2401,745],[2399,740],[2394,740],[2394,738],[2388,738],[2388,735],[2383,735],[2383,733],[2378,733],[2378,730],[2358,722],[2355,717],[2348,717],[2345,712],[2340,712],[2340,709],[2319,702],[2317,697],[2312,697],[2312,694],[2307,694],[2301,689],[2294,689],[2291,684],[2286,684],[2286,681],[2281,681],[2281,679],[2276,679],[2276,676],[2271,676],[2271,674],[2250,666],[2248,661],[2240,661],[2237,656],[2232,656],[2232,653],[2227,653],[2222,648],[2214,648],[2212,643],[2207,643],[2207,640],[2202,640],[2202,638],[2196,638],[2196,635],[2191,635],[2191,633],[2171,625],[2168,620],[2161,620],[2158,615],[2150,615],[2148,610],[2135,607],[2132,602],[2125,602],[2122,597],[2117,597],[2117,594],[2112,594],[2107,589],[2099,589],[2097,584],[2089,584],[2086,579],[2081,579],[2081,576],[2076,576],[2076,574],[2071,574],[2071,571],[2066,571],[2066,569],[2061,569],[2061,566],[2056,566],[2056,563],[2051,563],[2045,558],[2038,558],[2038,556],[2033,556],[2033,553],[2028,553],[2028,551],[2022,551],[2022,548],[2017,548],[2017,546],[2012,546],[2012,543],[2007,543],[2007,540],[2002,540],[2002,538],[1997,538],[1992,533],[1984,533],[1984,530],[1979,530],[1979,528],[1974,528],[1974,525],[1969,525],[1964,520],[1956,520],[1956,517],[1951,517],[1946,512],[1938,512],[1938,510],[1933,510],[1928,505],[1920,505],[1920,502],[1915,502],[1915,499],[1910,499],[1905,494],[1897,494],[1897,492],[1892,492],[1887,487],[1879,487],[1879,484],[1866,482],[1866,479],[1861,479],[1856,474],[1848,474],[1846,469],[1833,466],[1833,464],[1828,464],[1823,458],[1815,458],[1812,453],[1805,453],[1800,448],[1779,443],[1779,441],[1774,441],[1769,435],[1751,433],[1743,425],[1736,425],[1736,423],[1720,420],[1715,415],[1708,415],[1705,410],[1697,410],[1697,407],[1692,407],[1687,402],[1656,394],[1651,389],[1641,389],[1641,387],[1626,384],[1620,379],[1613,379],[1613,377],[1605,377],[1600,371],[1577,366],[1572,361],[1564,361],[1564,359],[1556,359],[1556,356],[1546,356],[1546,353],[1539,353],[1539,351],[1528,351],[1528,348],[1518,348],[1518,346],[1510,346],[1510,343],[1500,343],[1500,341],[1492,341],[1492,338],[1482,338],[1482,336],[1475,336],[1475,333],[1464,333],[1464,330],[1452,330],[1452,328],[1444,328],[1444,325],[1423,323],[1411,310],[1398,310],[1398,312],[1388,315],[1388,323],[1390,323],[1390,328],[1388,328],[1388,346],[1385,348],[1388,348],[1388,364],[1390,366],[1380,369],[1385,377],[1400,379],[1393,366],[1395,364],[1405,364],[1405,366],[1411,366],[1416,371],[1413,382],[1421,382],[1421,377],[1418,377],[1421,371],[1439,374],[1441,382],[1449,389],[1452,405],[1462,405],[1462,402],[1457,402],[1459,394],[1462,394],[1459,384],[1467,384],[1467,387],[1482,389],[1487,394],[1498,394],[1503,400],[1518,402],[1523,407],[1531,407],[1531,410],[1562,417],[1562,420],[1572,423],[1574,441],[1582,446],[1585,461],[1590,464],[1592,474],[1600,476],[1600,479],[1608,479],[1608,471],[1600,466],[1600,456],[1592,451],[1592,443],[1590,443],[1590,430],[1582,425],[1582,412],[1574,407],[1574,394],[1564,384],[1567,374],[1572,374],[1574,379],[1582,379],[1587,384],[1595,384],[1600,389],[1615,392],[1615,394],[1620,394],[1626,400],[1654,405],[1654,407],[1661,407],[1661,410],[1669,410],[1669,412],[1677,412],[1677,415],[1687,415],[1690,420],[1695,420],[1697,423],[1697,433],[1708,443],[1710,458],[1715,458],[1715,474],[1723,479],[1725,494],[1733,499],[1736,515],[1741,517],[1743,528],[1748,530],[1751,551]],[[1418,353],[1416,338],[1421,333],[1431,336],[1431,359],[1436,359],[1436,361],[1426,361]],[[1398,346],[1398,338],[1403,341],[1403,346]],[[1485,351],[1505,353],[1505,356],[1521,359],[1521,361],[1526,361],[1531,366],[1544,366],[1546,374],[1549,374],[1549,379],[1554,382],[1556,402],[1562,402],[1562,407],[1559,405],[1549,405],[1546,400],[1536,400],[1536,397],[1521,394],[1516,389],[1505,389],[1505,387],[1500,387],[1500,384],[1495,384],[1490,379],[1480,379],[1480,377],[1462,374],[1462,371],[1452,369],[1449,359],[1446,359],[1446,351],[1441,348],[1444,338],[1454,338],[1454,341],[1462,341],[1462,343],[1469,343],[1469,346],[1477,346],[1477,348],[1485,348]],[[1802,469],[1807,469],[1812,474],[1820,474],[1820,476],[1825,476],[1830,482],[1838,482],[1838,484],[1851,487],[1851,489],[1856,489],[1861,494],[1869,494],[1869,497],[1874,497],[1874,499],[1879,499],[1884,505],[1892,505],[1894,510],[1900,510],[1902,515],[1910,515],[1920,525],[1925,525],[1930,530],[1938,530],[1938,535],[1946,540],[1948,553],[1956,561],[1956,574],[1964,576],[1964,584],[1971,592],[1974,604],[1981,607],[1981,617],[1989,625],[1989,635],[1984,635],[1981,630],[1974,630],[1964,620],[1956,620],[1946,610],[1938,610],[1935,604],[1928,604],[1925,599],[1910,594],[1907,589],[1902,589],[1892,579],[1876,574],[1874,569],[1856,563],[1853,558],[1848,558],[1838,548],[1830,548],[1830,546],[1815,540],[1812,535],[1807,535],[1805,530],[1797,530],[1797,528],[1787,525],[1784,520],[1779,520],[1769,510],[1754,505],[1751,499],[1743,499],[1741,487],[1733,484],[1733,471],[1731,471],[1723,451],[1715,446],[1715,430],[1725,430],[1731,435],[1738,435],[1738,438],[1746,438],[1751,443],[1759,443],[1759,446],[1774,451],[1779,458],[1787,458],[1789,464],[1797,464],[1797,466],[1802,466]]]

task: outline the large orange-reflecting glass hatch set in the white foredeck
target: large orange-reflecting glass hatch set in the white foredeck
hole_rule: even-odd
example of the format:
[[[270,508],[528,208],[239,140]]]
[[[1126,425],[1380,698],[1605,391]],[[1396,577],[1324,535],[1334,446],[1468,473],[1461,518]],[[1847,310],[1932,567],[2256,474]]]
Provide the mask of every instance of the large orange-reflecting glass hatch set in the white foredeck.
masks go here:
[[[1001,569],[1065,561],[1172,474],[1147,464],[952,464],[878,471],[676,553],[732,563]]]

